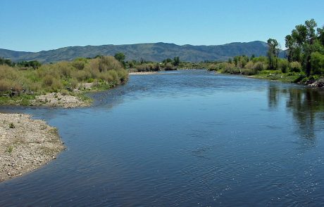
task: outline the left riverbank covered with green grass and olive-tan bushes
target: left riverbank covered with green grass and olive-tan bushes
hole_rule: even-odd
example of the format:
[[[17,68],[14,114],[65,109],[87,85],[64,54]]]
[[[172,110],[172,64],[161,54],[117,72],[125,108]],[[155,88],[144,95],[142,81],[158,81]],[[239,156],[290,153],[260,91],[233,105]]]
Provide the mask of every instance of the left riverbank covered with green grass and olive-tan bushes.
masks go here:
[[[127,79],[123,65],[111,56],[77,58],[37,69],[0,65],[0,105],[33,105],[37,96],[47,93],[87,100],[85,93],[106,90]]]

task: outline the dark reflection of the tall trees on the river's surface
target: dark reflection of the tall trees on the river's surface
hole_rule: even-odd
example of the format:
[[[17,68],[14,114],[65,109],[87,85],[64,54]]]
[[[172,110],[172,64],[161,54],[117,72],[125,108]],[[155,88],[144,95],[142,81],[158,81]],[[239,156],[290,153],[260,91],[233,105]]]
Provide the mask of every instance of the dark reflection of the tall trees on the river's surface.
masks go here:
[[[298,126],[299,137],[315,142],[316,121],[323,121],[324,91],[317,88],[282,88],[270,83],[268,87],[268,107],[277,109],[280,99],[284,99],[287,112],[292,114]],[[320,123],[318,123],[320,126]]]

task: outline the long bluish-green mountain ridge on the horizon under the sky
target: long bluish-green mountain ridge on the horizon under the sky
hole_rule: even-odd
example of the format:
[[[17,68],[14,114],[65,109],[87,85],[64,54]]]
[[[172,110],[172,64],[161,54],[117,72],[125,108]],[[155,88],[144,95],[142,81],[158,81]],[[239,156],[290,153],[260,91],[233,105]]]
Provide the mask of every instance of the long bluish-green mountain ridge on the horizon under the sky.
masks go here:
[[[263,41],[247,43],[234,42],[219,46],[179,46],[167,43],[127,44],[103,46],[70,46],[37,53],[9,51],[0,49],[1,58],[10,58],[14,62],[21,60],[38,60],[40,62],[58,62],[73,60],[78,57],[93,58],[96,55],[115,55],[122,52],[126,60],[162,61],[179,56],[182,61],[200,62],[204,60],[228,60],[236,55],[266,55],[268,45]]]

